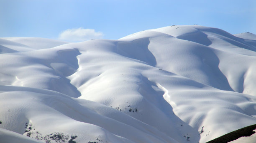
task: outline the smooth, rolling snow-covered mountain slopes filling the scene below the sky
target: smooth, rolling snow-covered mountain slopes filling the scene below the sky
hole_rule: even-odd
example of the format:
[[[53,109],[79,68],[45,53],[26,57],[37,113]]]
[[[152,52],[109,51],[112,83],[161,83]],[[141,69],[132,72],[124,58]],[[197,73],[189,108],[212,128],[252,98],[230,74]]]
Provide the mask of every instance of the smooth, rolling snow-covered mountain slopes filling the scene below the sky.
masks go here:
[[[256,35],[0,38],[1,143],[205,143],[256,124]],[[27,137],[29,136],[29,137]]]

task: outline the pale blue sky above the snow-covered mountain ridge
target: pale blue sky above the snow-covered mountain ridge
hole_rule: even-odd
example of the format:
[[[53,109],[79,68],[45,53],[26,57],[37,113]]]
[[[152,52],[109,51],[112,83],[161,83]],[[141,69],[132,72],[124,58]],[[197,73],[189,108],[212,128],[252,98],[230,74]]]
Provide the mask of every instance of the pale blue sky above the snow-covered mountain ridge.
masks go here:
[[[0,0],[0,37],[119,39],[194,24],[256,34],[256,0]]]

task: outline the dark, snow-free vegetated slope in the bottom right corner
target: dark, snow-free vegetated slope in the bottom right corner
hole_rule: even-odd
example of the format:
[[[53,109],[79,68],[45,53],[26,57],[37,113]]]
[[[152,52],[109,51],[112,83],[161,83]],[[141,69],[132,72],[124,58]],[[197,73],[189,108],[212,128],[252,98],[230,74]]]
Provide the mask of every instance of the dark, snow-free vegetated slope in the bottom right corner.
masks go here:
[[[255,133],[253,130],[256,129],[256,124],[247,126],[241,129],[238,129],[236,131],[227,133],[223,136],[220,136],[218,138],[215,138],[212,141],[208,141],[207,143],[228,143],[230,141],[234,141],[242,136],[251,136],[253,133]]]

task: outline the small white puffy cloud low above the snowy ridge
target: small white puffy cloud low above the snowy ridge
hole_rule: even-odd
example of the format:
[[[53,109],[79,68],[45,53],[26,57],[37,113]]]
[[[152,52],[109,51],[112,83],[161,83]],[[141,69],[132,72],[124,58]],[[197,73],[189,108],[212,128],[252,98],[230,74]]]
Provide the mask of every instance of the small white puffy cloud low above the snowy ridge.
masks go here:
[[[67,29],[59,34],[59,39],[71,42],[81,42],[90,39],[101,39],[102,32],[95,32],[94,29]]]

